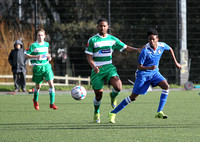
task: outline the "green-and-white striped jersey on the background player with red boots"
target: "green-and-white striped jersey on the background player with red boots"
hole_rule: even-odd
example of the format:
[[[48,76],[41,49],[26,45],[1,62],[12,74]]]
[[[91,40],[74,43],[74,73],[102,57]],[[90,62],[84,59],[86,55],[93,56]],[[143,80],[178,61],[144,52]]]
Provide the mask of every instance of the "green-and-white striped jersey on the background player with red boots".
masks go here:
[[[31,44],[29,49],[25,52],[27,55],[43,55],[41,59],[37,58],[32,58],[30,59],[31,65],[36,66],[36,65],[45,65],[49,63],[47,59],[47,54],[49,53],[49,43],[44,42],[43,45],[38,44],[38,42],[34,42]]]

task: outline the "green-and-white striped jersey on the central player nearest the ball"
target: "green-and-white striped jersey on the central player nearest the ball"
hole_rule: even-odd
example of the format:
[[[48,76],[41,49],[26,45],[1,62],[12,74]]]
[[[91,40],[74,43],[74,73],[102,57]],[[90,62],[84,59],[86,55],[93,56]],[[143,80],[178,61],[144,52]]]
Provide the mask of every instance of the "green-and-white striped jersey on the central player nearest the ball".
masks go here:
[[[92,55],[95,66],[102,66],[112,64],[112,53],[115,49],[122,52],[126,47],[126,44],[110,34],[106,37],[96,34],[88,40],[85,53]]]

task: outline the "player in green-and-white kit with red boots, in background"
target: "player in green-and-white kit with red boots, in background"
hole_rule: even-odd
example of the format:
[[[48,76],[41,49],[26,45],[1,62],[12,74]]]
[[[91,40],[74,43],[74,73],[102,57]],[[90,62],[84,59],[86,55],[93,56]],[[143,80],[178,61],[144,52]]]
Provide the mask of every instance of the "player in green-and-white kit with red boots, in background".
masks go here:
[[[54,104],[55,102],[55,88],[53,84],[53,71],[49,61],[51,56],[49,54],[49,43],[45,42],[46,35],[43,29],[37,31],[37,41],[31,44],[28,51],[25,53],[25,57],[30,59],[31,65],[33,65],[33,82],[35,82],[33,104],[36,110],[39,110],[38,96],[43,79],[49,84],[50,95],[50,108],[58,109]]]

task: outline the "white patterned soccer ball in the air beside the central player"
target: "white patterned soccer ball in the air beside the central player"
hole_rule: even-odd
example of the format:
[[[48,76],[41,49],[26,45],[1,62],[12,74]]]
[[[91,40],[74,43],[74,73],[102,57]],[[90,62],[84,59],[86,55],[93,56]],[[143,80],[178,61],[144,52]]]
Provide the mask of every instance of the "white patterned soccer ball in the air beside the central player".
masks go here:
[[[71,90],[71,95],[75,100],[83,100],[86,97],[86,90],[83,86],[75,86]]]

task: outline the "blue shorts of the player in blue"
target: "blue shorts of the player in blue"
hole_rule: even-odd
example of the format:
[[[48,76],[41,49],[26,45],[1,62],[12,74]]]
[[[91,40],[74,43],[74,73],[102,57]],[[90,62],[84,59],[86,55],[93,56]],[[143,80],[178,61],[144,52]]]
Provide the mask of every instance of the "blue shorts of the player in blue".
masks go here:
[[[163,80],[166,79],[160,74],[160,72],[156,72],[151,76],[137,75],[132,92],[135,94],[145,95],[150,85],[155,87]]]

